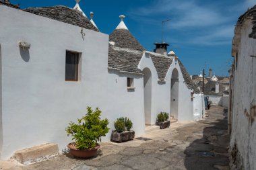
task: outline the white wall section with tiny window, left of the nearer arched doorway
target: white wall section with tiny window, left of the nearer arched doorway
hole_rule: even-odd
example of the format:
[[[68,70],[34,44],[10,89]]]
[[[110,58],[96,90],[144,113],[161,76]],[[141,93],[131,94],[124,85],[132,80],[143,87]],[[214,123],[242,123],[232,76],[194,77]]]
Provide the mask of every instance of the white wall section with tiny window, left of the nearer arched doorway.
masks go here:
[[[135,136],[145,132],[143,75],[119,73],[108,70],[108,108],[107,118],[111,130],[115,130],[113,122],[120,117],[128,117],[133,122]],[[135,89],[127,89],[127,77],[133,78]],[[110,130],[110,131],[111,131]],[[110,133],[106,140],[110,140]]]

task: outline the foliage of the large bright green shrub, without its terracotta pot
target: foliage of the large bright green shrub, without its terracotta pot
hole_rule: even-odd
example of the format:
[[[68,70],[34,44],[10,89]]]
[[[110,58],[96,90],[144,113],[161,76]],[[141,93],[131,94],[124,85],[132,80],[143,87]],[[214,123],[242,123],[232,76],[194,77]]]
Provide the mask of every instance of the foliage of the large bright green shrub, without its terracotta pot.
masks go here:
[[[101,141],[102,136],[108,133],[108,120],[100,120],[101,111],[96,108],[93,112],[92,108],[87,108],[86,116],[78,119],[78,124],[69,123],[66,128],[67,136],[71,135],[75,141],[75,146],[79,150],[94,148],[97,142]]]

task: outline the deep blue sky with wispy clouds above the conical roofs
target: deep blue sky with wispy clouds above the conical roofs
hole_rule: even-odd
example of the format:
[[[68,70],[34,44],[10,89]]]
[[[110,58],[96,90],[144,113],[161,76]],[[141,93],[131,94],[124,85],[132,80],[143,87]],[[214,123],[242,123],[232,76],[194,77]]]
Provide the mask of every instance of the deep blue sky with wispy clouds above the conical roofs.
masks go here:
[[[74,7],[75,0],[11,0],[21,8],[65,5]],[[231,44],[234,26],[256,0],[82,0],[80,7],[101,32],[111,34],[126,15],[125,24],[147,50],[161,42],[162,21],[164,42],[179,56],[191,75],[211,68],[216,75],[228,75],[232,62]],[[207,73],[207,72],[206,72]]]

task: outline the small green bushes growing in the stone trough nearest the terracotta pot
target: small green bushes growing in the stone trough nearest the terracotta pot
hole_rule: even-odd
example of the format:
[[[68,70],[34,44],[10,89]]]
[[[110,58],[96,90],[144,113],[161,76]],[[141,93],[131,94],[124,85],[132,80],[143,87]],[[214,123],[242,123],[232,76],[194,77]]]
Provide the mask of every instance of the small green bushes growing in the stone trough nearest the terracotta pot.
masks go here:
[[[131,130],[133,126],[133,122],[131,122],[129,118],[121,117],[114,122],[114,126],[115,126],[115,130],[121,133],[121,132],[125,132],[125,130],[127,131]]]

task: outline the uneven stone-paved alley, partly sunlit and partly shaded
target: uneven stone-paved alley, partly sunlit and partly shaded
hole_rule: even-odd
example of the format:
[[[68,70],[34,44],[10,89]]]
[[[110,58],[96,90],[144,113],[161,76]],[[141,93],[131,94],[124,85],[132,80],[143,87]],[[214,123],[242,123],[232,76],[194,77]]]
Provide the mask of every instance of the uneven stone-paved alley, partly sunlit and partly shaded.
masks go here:
[[[93,159],[61,155],[11,169],[229,169],[226,109],[213,106],[205,120],[170,126],[129,142],[102,143],[98,157]]]

